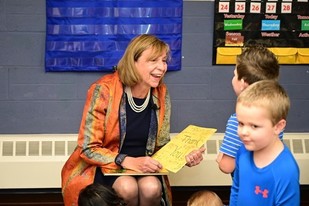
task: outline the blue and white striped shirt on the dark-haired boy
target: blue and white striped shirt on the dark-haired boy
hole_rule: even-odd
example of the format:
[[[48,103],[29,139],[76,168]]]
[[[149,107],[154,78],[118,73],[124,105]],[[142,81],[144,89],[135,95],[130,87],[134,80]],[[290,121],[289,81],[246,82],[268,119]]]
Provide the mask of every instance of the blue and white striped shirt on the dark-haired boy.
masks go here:
[[[232,114],[227,121],[223,142],[220,146],[221,153],[233,158],[236,157],[237,151],[243,145],[241,139],[238,136],[237,129],[238,120],[235,113]],[[283,131],[279,134],[279,138],[283,138]]]

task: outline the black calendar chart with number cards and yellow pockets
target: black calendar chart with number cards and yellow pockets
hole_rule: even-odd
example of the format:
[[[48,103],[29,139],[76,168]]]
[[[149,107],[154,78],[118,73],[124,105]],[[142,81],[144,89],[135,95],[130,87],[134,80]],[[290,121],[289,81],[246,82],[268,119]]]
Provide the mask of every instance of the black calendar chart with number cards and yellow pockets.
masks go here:
[[[309,64],[309,0],[215,0],[213,64],[264,45],[280,64]]]

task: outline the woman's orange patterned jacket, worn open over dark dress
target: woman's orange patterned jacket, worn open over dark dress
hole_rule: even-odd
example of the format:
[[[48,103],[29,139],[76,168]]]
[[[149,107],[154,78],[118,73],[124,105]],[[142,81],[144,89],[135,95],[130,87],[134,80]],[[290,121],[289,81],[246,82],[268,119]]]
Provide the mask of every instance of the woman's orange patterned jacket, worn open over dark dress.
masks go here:
[[[123,97],[123,84],[118,72],[105,75],[90,86],[77,146],[61,171],[62,195],[66,206],[78,205],[79,192],[93,183],[96,167],[119,169],[114,161],[125,138],[125,134],[120,132]],[[152,99],[159,108],[156,110],[158,128],[157,135],[149,138],[147,142],[147,147],[151,147],[148,155],[152,155],[170,141],[171,103],[165,84],[152,90]],[[162,178],[164,197],[167,205],[172,205],[168,178]]]

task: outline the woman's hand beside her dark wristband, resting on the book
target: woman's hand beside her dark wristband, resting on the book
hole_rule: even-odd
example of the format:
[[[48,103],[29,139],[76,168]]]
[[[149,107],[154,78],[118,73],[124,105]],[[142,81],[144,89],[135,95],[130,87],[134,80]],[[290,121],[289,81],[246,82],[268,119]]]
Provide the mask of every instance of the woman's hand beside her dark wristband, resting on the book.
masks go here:
[[[162,169],[162,165],[157,160],[145,156],[145,157],[126,157],[122,162],[122,167],[125,169],[134,170],[143,173],[159,172]]]

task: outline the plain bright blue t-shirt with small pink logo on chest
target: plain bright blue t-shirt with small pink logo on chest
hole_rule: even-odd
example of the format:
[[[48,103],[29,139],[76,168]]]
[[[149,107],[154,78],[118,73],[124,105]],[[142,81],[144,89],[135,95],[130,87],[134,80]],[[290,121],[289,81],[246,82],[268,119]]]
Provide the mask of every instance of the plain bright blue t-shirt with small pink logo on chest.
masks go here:
[[[269,165],[258,168],[242,146],[236,156],[230,206],[299,206],[299,168],[286,145]]]

